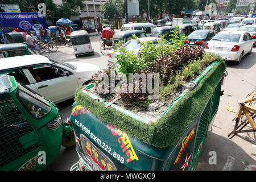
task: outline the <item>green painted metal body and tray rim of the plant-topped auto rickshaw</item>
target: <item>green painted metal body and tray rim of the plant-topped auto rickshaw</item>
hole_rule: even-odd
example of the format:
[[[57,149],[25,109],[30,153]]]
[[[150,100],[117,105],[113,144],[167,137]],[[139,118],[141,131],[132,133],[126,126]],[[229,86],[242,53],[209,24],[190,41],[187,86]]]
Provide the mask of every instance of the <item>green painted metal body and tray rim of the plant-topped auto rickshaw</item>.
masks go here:
[[[206,70],[210,72],[216,64],[217,62],[214,62]],[[194,81],[200,85],[200,81],[204,77],[205,75],[202,73]],[[134,134],[126,133],[119,129],[119,127],[103,121],[103,119],[95,115],[92,110],[88,109],[92,108],[92,106],[87,104],[88,108],[86,108],[86,103],[81,105],[82,100],[78,100],[80,105],[77,104],[77,102],[73,104],[71,121],[75,131],[76,150],[77,154],[79,154],[80,162],[84,165],[85,169],[103,171],[195,170],[199,163],[201,149],[207,138],[208,129],[210,129],[217,113],[220,101],[219,92],[221,90],[221,82],[221,78],[218,77],[217,84],[214,86],[211,96],[203,103],[203,109],[199,114],[194,115],[192,121],[189,122],[188,127],[184,130],[180,138],[177,139],[174,144],[167,145],[166,147],[156,147],[153,143],[142,142],[142,140],[135,138],[133,136]],[[89,85],[88,88],[92,86],[93,85]],[[199,89],[206,88],[207,86]],[[82,93],[90,96],[95,102],[101,102],[104,105],[108,104],[108,102],[105,102],[102,98],[86,90],[82,90]],[[166,117],[168,113],[174,109],[175,105],[183,101],[186,95],[187,93],[183,92],[166,112],[160,116],[158,122],[160,122],[160,119]],[[113,105],[112,108],[115,108]],[[117,109],[116,112],[129,115],[129,117],[132,117],[138,122],[148,125],[147,122],[143,121],[143,119],[145,120],[146,118],[135,117],[135,114],[130,115],[130,111],[127,112],[125,109]],[[103,117],[103,115],[101,116]],[[183,115],[179,117],[185,119]],[[116,118],[116,116],[113,115],[113,118],[110,120],[112,119],[118,120],[122,118]],[[182,126],[180,125],[180,127]],[[136,128],[134,128],[134,130],[138,131]],[[159,130],[158,127],[155,127],[155,130]],[[143,132],[144,131],[141,131],[142,135]],[[152,135],[154,134],[158,134],[158,131],[152,130]],[[158,135],[162,134],[159,133]],[[155,137],[153,138],[158,138],[158,135],[154,135]],[[163,140],[170,137],[170,135],[164,135]]]

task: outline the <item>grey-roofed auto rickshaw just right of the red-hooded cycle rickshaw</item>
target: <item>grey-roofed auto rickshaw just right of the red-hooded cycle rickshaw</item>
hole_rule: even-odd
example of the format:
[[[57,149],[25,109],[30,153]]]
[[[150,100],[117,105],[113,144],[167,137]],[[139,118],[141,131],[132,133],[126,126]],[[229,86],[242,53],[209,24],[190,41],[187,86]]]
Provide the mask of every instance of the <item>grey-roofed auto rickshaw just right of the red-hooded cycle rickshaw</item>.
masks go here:
[[[137,36],[138,38],[144,38],[147,36],[146,31],[143,30],[126,30],[117,32],[113,35],[113,49],[118,47],[118,43],[121,45],[125,44],[128,40],[133,39],[133,35]]]

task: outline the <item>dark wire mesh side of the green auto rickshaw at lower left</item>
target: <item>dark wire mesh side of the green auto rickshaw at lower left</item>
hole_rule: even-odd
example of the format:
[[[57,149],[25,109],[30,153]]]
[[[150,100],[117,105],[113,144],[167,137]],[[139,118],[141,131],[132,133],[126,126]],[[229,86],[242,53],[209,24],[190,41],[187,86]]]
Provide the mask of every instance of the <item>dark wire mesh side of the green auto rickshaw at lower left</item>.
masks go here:
[[[39,147],[33,144],[24,148],[19,139],[33,131],[31,125],[24,118],[14,100],[9,98],[0,102],[0,167],[19,159]]]

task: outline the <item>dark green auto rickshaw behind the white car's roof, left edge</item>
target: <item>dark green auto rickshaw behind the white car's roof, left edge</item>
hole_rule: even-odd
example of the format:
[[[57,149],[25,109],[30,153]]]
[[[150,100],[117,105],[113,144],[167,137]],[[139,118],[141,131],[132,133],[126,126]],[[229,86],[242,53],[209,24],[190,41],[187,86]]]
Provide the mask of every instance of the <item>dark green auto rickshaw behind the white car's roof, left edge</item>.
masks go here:
[[[34,55],[35,53],[23,43],[1,44],[0,57],[14,57],[24,55]]]

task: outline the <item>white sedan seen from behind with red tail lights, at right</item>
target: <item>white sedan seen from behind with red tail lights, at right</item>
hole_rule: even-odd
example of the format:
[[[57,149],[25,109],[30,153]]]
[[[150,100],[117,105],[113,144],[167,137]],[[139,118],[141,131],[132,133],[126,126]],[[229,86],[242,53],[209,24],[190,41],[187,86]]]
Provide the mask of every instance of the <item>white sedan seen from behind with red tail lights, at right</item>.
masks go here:
[[[222,31],[218,32],[204,48],[205,52],[219,54],[223,59],[240,63],[243,56],[251,53],[254,40],[249,32]]]

